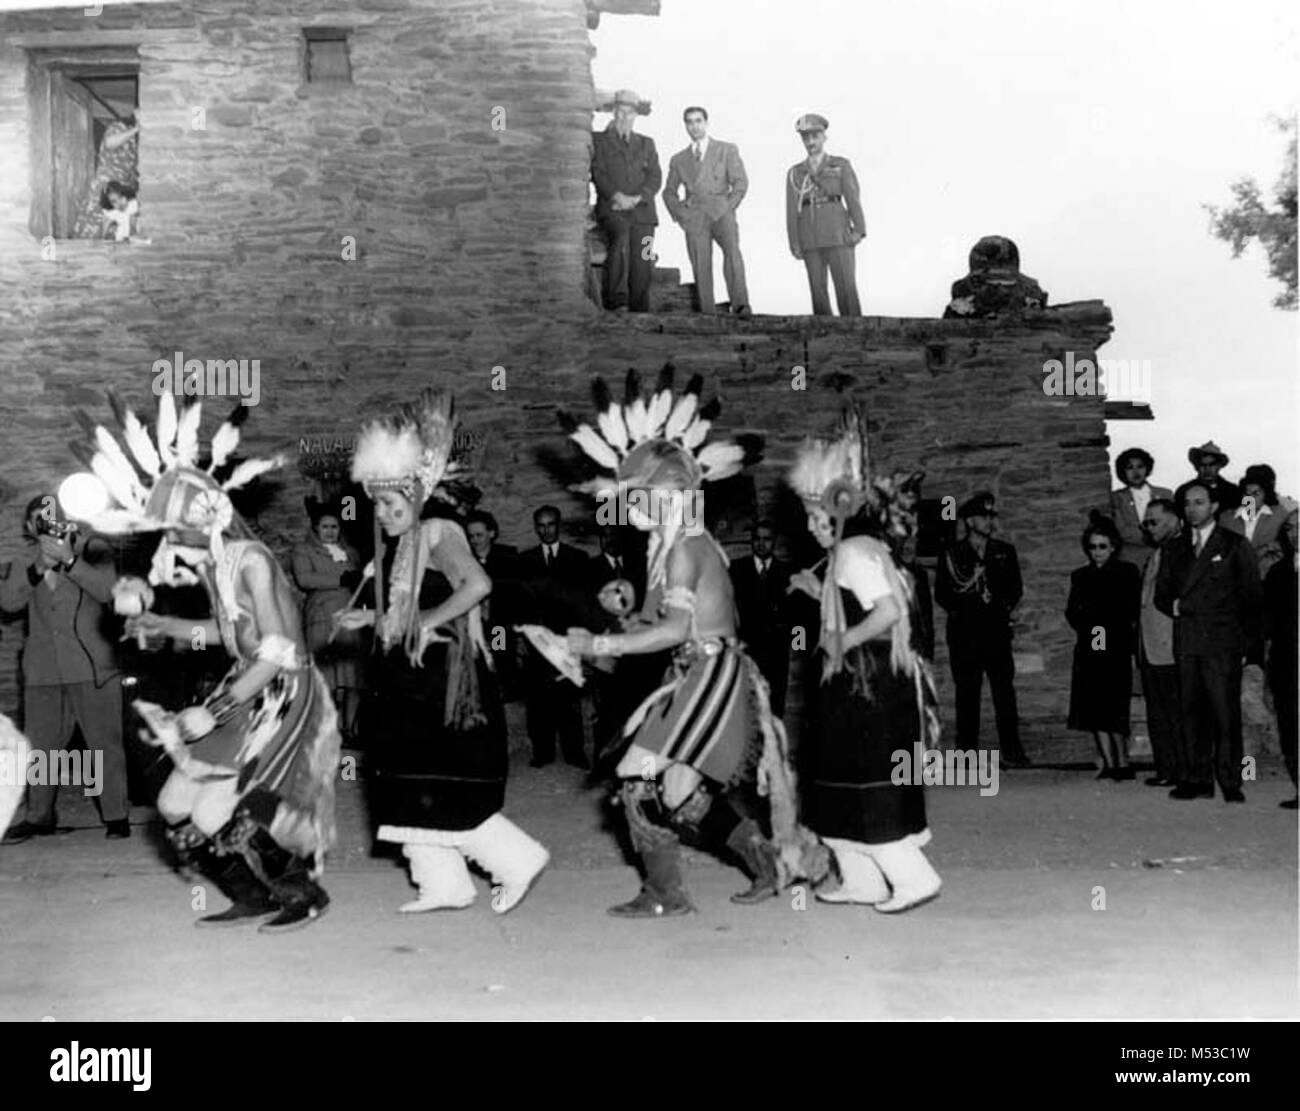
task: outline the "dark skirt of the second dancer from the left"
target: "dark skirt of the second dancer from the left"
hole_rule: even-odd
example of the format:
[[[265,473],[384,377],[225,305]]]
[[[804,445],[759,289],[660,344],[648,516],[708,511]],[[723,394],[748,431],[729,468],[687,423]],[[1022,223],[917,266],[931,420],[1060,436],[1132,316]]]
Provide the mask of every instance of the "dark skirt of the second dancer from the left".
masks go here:
[[[485,721],[445,724],[447,646],[412,668],[400,646],[377,660],[365,729],[370,817],[380,825],[459,830],[506,802],[506,719],[497,682],[476,656]]]

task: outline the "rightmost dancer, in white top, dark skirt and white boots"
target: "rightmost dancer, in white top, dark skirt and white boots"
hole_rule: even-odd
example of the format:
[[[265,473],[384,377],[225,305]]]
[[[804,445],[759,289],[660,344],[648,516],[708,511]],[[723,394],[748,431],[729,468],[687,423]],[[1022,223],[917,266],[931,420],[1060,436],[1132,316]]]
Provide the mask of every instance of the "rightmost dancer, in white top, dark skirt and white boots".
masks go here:
[[[930,829],[920,786],[923,752],[939,741],[937,702],[919,651],[915,583],[897,559],[922,477],[872,477],[853,411],[836,439],[807,441],[789,473],[809,531],[827,550],[824,564],[792,580],[822,603],[823,665],[810,669],[805,693],[803,815],[844,881],[816,897],[885,912],[918,906],[940,886],[922,852]],[[898,752],[915,769],[911,784],[893,778]]]

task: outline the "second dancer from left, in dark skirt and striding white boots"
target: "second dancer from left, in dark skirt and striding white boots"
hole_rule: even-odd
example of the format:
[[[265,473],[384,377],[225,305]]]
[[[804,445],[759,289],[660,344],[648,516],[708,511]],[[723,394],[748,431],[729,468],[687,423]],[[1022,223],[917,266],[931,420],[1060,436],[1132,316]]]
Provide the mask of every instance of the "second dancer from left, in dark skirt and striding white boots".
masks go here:
[[[378,837],[402,845],[420,891],[402,911],[469,906],[471,859],[498,884],[493,910],[504,913],[550,858],[500,812],[506,720],[480,612],[491,580],[460,525],[420,518],[428,498],[450,498],[454,437],[451,398],[432,390],[363,426],[352,479],[374,499],[376,557],[359,600],[376,608],[338,620],[373,625],[385,654],[367,760]],[[381,531],[395,543],[385,546]]]

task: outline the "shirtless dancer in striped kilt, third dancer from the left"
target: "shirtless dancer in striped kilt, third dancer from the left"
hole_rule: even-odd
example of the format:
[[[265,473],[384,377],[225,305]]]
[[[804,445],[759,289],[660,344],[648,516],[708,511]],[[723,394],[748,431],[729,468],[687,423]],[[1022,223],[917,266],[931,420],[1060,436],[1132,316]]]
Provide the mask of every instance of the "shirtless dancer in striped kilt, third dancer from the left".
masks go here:
[[[577,655],[621,656],[673,650],[664,685],[629,717],[619,764],[623,808],[641,855],[645,884],[623,917],[693,910],[681,882],[679,841],[727,846],[754,877],[734,898],[753,903],[784,881],[816,872],[815,838],[796,821],[785,732],[768,704],[767,683],[737,635],[727,555],[705,529],[703,483],[737,474],[758,453],[757,438],[706,443],[716,400],[699,404],[702,379],[680,396],[664,368],[647,398],[628,376],[623,403],[595,382],[595,425],[572,438],[604,470],[582,489],[601,502],[602,524],[630,522],[650,533],[649,587],[641,628],[593,637],[569,630]],[[572,424],[572,422],[571,422]],[[768,795],[772,838],[755,815]]]

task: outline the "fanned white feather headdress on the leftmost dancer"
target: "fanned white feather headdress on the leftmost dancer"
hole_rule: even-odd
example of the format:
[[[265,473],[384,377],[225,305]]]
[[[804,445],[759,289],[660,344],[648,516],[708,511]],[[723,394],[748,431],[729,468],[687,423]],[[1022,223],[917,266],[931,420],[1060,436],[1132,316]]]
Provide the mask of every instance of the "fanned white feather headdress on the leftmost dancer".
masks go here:
[[[126,450],[104,424],[95,424],[81,409],[75,416],[92,446],[74,443],[72,447],[109,499],[117,503],[87,517],[101,533],[190,529],[220,535],[234,520],[229,491],[285,464],[282,455],[250,459],[235,466],[225,481],[217,481],[216,472],[230,461],[239,446],[239,426],[248,416],[248,407],[242,403],[212,437],[212,457],[205,469],[199,466],[202,402],[177,412],[172,394],[162,394],[155,428],[156,446],[140,418],[117,395],[109,392],[108,403]]]

